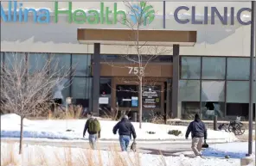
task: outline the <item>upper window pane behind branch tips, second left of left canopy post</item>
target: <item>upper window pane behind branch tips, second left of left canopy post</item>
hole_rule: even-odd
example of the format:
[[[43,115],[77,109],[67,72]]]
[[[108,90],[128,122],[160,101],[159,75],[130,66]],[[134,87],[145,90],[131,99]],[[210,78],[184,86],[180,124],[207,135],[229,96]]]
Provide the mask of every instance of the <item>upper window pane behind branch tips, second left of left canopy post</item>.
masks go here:
[[[66,75],[70,71],[71,67],[71,55],[56,53],[50,56],[51,58],[51,68],[50,71],[56,73],[55,75],[61,77]]]

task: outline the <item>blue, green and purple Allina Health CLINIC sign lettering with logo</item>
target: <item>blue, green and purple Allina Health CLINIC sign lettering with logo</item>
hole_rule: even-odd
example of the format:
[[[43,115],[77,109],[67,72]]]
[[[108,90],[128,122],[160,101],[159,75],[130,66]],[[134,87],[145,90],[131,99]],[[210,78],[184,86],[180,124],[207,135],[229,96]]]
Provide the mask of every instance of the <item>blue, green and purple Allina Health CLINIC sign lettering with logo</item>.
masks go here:
[[[58,17],[60,15],[67,15],[67,22],[76,24],[117,24],[118,17],[121,16],[122,24],[125,24],[127,15],[131,17],[131,21],[136,23],[135,15],[132,13],[138,13],[143,15],[145,18],[144,25],[150,24],[155,18],[155,10],[151,5],[146,5],[146,3],[141,2],[139,5],[133,5],[131,10],[137,10],[136,12],[131,11],[131,15],[127,14],[124,10],[118,10],[117,3],[113,3],[112,9],[106,7],[104,3],[100,3],[99,11],[95,9],[83,10],[83,9],[73,9],[72,2],[68,2],[68,9],[59,9],[59,3],[54,2],[54,22],[58,22]],[[7,12],[5,12],[7,10]],[[179,12],[189,11],[191,13],[191,18],[182,19],[179,17]],[[210,10],[210,22],[208,22],[208,11]],[[221,11],[224,11],[221,15]],[[241,19],[243,12],[252,12],[250,8],[240,8],[235,9],[234,7],[222,7],[217,9],[216,7],[204,7],[203,19],[196,20],[195,6],[190,9],[187,6],[179,6],[174,11],[174,18],[176,22],[180,24],[215,24],[215,17],[221,21],[223,25],[234,25],[234,20],[236,19],[241,25],[250,25],[251,21],[244,22]],[[33,22],[35,23],[49,23],[50,21],[50,11],[49,9],[33,9],[33,8],[23,8],[22,3],[17,3],[16,1],[10,1],[8,3],[8,9],[3,9],[1,3],[1,19],[3,22],[28,22],[29,13],[33,15]]]

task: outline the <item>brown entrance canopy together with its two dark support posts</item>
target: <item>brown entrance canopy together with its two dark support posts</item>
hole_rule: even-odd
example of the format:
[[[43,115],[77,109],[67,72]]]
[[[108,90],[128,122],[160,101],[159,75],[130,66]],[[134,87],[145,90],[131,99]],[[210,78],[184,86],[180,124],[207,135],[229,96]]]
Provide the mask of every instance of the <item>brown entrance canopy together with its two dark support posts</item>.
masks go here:
[[[136,34],[139,38],[137,40]],[[132,29],[77,29],[77,40],[81,44],[94,45],[93,55],[93,112],[99,114],[100,44],[118,46],[173,46],[172,66],[172,118],[181,118],[178,110],[180,78],[180,46],[195,46],[196,31],[132,30]],[[138,42],[137,42],[138,41]],[[167,117],[170,110],[166,111]]]

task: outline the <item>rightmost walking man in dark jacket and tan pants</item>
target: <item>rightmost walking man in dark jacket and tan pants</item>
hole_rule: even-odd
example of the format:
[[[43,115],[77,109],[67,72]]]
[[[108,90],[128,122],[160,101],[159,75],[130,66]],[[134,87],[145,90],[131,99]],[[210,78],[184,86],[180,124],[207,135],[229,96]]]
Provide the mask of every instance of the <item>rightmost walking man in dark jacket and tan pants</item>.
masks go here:
[[[186,139],[189,138],[190,132],[192,136],[192,151],[195,156],[202,156],[200,151],[202,150],[203,138],[204,142],[206,142],[207,139],[207,128],[200,120],[199,114],[195,114],[195,120],[189,124]]]

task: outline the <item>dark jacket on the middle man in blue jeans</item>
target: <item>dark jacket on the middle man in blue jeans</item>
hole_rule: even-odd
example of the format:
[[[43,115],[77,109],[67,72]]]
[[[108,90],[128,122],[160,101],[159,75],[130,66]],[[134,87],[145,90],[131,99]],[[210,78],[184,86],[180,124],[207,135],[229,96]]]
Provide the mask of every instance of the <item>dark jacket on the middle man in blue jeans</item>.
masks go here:
[[[118,122],[116,126],[113,127],[113,133],[116,134],[118,131],[119,135],[127,135],[133,138],[136,138],[136,132],[134,129],[134,126],[131,124],[131,122],[125,118],[123,118],[121,121]]]

